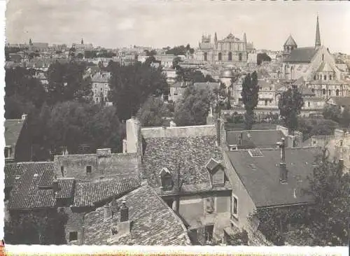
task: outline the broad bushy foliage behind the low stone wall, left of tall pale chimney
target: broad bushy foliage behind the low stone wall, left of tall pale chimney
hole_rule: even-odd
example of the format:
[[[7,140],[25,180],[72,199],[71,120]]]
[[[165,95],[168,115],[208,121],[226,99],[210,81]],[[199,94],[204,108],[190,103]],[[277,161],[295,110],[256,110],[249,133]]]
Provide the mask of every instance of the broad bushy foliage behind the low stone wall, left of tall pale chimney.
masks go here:
[[[65,101],[43,111],[45,120],[45,144],[55,152],[66,146],[70,153],[78,151],[81,144],[97,148],[120,150],[120,122],[113,106]]]

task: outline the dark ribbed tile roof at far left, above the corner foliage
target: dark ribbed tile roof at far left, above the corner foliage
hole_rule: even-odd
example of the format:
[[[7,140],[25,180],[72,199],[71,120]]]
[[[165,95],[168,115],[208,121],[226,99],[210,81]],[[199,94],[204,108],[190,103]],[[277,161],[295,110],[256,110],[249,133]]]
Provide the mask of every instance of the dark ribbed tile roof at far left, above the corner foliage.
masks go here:
[[[39,190],[53,180],[53,162],[6,164],[6,185],[12,186],[8,208],[45,208],[55,206],[52,190]]]

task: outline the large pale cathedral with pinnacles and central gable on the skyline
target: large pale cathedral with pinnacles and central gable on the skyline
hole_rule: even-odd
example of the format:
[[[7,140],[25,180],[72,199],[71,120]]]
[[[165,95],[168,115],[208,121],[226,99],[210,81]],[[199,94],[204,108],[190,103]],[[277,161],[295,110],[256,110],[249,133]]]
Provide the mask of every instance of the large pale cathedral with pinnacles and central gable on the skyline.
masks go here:
[[[256,51],[253,43],[247,43],[246,34],[243,40],[229,34],[222,40],[214,36],[211,43],[211,36],[202,36],[202,42],[196,51],[196,59],[210,64],[237,64],[246,62],[256,62]]]

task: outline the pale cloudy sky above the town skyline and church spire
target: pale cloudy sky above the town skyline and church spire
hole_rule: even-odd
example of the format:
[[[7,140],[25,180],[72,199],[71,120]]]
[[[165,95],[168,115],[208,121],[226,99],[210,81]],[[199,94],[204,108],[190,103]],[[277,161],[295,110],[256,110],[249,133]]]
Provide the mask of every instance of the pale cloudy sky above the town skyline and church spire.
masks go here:
[[[298,47],[321,43],[350,54],[349,1],[7,0],[6,41],[197,47],[202,34],[232,33],[257,49],[281,50],[291,34]]]

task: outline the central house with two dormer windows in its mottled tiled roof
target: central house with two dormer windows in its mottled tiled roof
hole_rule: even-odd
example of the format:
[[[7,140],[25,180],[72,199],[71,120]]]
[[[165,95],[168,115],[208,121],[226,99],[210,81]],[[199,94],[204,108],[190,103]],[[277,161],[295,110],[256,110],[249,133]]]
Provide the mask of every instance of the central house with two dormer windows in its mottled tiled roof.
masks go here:
[[[194,243],[223,239],[232,187],[215,125],[141,129],[143,177],[181,216]]]

